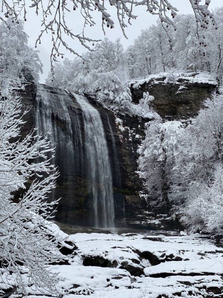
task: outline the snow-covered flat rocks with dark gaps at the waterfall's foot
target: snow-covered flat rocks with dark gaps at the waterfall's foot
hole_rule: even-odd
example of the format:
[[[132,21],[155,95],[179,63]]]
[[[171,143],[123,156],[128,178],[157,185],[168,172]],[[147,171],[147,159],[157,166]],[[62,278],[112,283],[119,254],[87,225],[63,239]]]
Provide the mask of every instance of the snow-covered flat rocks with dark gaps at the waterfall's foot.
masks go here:
[[[77,233],[68,241],[77,247],[70,265],[52,266],[61,297],[223,297],[223,248],[203,235]]]

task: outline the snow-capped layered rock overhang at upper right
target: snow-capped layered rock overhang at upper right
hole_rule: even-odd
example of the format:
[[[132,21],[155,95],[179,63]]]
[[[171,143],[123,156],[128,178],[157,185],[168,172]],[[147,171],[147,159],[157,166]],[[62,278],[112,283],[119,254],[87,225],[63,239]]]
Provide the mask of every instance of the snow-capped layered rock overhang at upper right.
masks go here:
[[[215,80],[196,80],[197,73],[179,77],[175,83],[165,83],[166,76],[152,77],[142,83],[132,82],[130,90],[134,103],[143,97],[143,92],[154,96],[152,107],[164,119],[188,119],[203,108],[203,101],[217,87]]]

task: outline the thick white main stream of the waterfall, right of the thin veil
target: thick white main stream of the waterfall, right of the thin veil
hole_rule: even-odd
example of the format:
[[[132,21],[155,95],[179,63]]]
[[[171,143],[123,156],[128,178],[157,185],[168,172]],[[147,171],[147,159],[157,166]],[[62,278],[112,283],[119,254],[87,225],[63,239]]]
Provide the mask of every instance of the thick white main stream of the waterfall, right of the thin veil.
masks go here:
[[[85,151],[89,193],[95,227],[114,227],[114,197],[109,154],[100,114],[86,97],[74,94],[84,115]]]

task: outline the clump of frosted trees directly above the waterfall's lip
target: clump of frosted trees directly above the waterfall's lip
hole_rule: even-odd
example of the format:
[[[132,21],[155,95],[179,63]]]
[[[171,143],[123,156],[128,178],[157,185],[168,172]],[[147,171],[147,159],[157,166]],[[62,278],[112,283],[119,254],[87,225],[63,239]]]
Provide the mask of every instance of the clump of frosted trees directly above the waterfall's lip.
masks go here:
[[[46,83],[78,94],[95,95],[100,104],[114,109],[127,109],[131,102],[128,86],[122,84],[124,54],[120,39],[105,38],[95,52],[84,54],[86,61],[76,58],[56,63],[54,74],[48,74]]]

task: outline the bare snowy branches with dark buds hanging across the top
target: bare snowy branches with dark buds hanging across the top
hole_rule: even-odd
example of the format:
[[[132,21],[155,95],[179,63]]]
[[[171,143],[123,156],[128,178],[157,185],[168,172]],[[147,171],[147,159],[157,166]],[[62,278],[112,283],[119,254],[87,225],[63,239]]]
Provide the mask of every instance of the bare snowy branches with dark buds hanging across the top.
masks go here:
[[[217,29],[217,24],[215,22],[215,18],[213,13],[208,9],[211,0],[203,1],[201,0],[188,0],[189,5],[191,5],[194,10],[195,19],[197,24],[200,25],[202,29],[208,27],[209,23],[213,23],[215,28]],[[41,15],[42,22],[42,30],[40,35],[37,38],[37,42],[41,42],[41,38],[44,33],[50,33],[52,38],[52,52],[51,52],[51,62],[56,60],[57,55],[63,56],[63,48],[68,49],[70,52],[73,52],[76,55],[79,55],[75,52],[74,49],[67,45],[67,35],[70,36],[71,39],[79,40],[81,44],[90,49],[90,43],[95,42],[93,38],[85,36],[84,29],[89,26],[95,25],[95,20],[92,16],[92,11],[96,10],[101,15],[102,18],[102,30],[105,33],[105,27],[114,28],[114,18],[110,15],[110,10],[108,6],[113,6],[115,9],[111,10],[111,14],[117,16],[117,21],[120,24],[121,29],[123,30],[123,34],[125,35],[125,27],[127,27],[127,23],[131,25],[131,20],[136,19],[136,15],[134,15],[134,7],[138,5],[145,6],[146,11],[153,15],[158,15],[158,18],[161,22],[161,26],[166,31],[168,38],[172,41],[172,34],[169,31],[169,27],[177,28],[174,18],[177,15],[177,8],[171,4],[169,0],[147,0],[147,1],[121,1],[121,0],[109,0],[102,1],[99,0],[84,0],[84,1],[76,1],[76,0],[64,0],[64,1],[43,1],[36,0],[32,1],[30,5],[36,11],[36,14]],[[72,28],[68,25],[67,22],[67,14],[73,13],[78,14],[83,17],[83,31],[80,33],[75,32],[75,26]],[[2,16],[0,16],[1,20],[4,21],[3,14],[6,18],[9,18],[13,15],[15,22],[18,22],[19,17],[23,17],[26,21],[27,15],[26,10],[26,1],[24,0],[12,0],[12,1],[2,1]],[[78,18],[77,18],[78,19]],[[75,17],[73,17],[75,20]],[[78,20],[79,22],[79,20]],[[73,24],[73,22],[72,22]],[[78,27],[78,26],[76,26]],[[78,27],[79,28],[79,27]],[[203,42],[204,35],[198,32],[199,42]],[[202,49],[205,51],[205,49]]]

